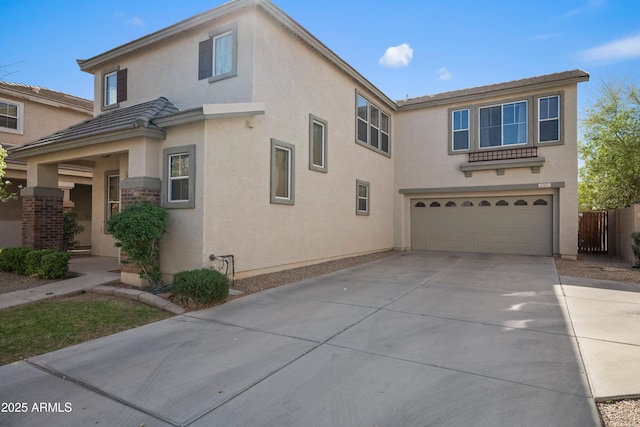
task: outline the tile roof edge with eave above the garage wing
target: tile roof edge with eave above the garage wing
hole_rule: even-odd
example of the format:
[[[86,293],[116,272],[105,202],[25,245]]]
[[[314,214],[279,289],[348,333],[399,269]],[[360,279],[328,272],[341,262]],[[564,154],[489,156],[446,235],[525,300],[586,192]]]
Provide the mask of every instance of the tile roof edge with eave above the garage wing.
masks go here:
[[[456,98],[465,98],[472,96],[486,95],[491,92],[499,92],[510,89],[530,87],[534,85],[542,85],[554,82],[560,82],[564,80],[584,81],[589,79],[589,73],[582,70],[563,71],[560,73],[546,74],[538,77],[530,77],[527,79],[513,80],[510,82],[497,83],[487,86],[478,86],[469,89],[454,90],[451,92],[443,92],[435,95],[420,96],[417,98],[409,98],[402,101],[396,101],[400,108],[410,108],[411,106],[417,106],[418,104],[430,104],[438,101],[454,100]]]

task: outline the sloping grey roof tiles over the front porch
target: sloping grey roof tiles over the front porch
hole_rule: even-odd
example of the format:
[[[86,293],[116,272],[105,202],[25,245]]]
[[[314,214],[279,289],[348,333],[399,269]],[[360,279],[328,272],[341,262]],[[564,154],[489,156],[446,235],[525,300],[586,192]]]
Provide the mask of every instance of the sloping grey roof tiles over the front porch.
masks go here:
[[[92,119],[72,125],[54,134],[25,144],[22,148],[59,143],[74,139],[98,136],[118,130],[145,127],[162,130],[153,124],[153,119],[178,112],[178,107],[165,97],[130,107],[118,108]],[[20,150],[20,149],[18,149]],[[21,151],[21,150],[20,150]]]

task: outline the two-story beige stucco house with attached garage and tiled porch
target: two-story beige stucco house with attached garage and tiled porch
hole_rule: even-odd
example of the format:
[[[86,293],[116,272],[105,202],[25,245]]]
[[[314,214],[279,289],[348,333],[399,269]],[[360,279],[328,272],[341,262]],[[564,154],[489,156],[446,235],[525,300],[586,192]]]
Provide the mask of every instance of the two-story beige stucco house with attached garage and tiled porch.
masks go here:
[[[117,255],[104,221],[144,198],[169,209],[168,275],[212,254],[238,275],[391,248],[576,256],[585,72],[394,102],[268,0],[78,63],[95,118],[13,155],[24,203],[61,197],[59,163],[92,166],[96,255]]]

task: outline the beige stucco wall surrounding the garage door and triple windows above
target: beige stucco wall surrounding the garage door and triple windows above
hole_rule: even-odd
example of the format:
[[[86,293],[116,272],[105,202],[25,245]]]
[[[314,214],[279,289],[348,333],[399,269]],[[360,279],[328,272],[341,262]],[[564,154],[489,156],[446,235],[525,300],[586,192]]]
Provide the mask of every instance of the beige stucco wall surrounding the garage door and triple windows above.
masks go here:
[[[402,195],[400,189],[412,188],[449,188],[494,186],[497,190],[504,186],[517,184],[545,184],[562,182],[564,187],[558,190],[536,189],[518,191],[514,194],[554,194],[554,253],[566,257],[577,254],[578,200],[577,200],[577,98],[576,86],[546,88],[534,92],[510,94],[503,97],[487,97],[474,100],[473,104],[505,102],[518,100],[531,95],[562,94],[562,117],[564,127],[563,145],[538,145],[538,156],[544,157],[540,173],[532,173],[530,168],[506,169],[504,175],[495,170],[474,171],[466,177],[460,171],[461,163],[468,161],[467,154],[448,154],[448,115],[449,108],[464,107],[450,104],[402,111],[396,114],[394,151],[395,161],[395,211],[394,246],[407,249],[410,242],[409,199],[427,195]],[[529,108],[536,108],[530,105]],[[530,126],[532,124],[530,122]],[[514,147],[515,148],[515,147]],[[509,194],[475,193],[479,194]],[[452,196],[456,193],[452,193]],[[470,194],[473,195],[473,194]]]

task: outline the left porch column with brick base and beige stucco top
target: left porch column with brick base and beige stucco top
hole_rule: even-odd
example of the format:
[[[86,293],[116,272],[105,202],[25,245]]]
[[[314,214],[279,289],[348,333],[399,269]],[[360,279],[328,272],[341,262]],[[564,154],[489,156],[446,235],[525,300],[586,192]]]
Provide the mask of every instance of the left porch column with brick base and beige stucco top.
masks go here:
[[[35,185],[32,185],[35,184]],[[30,249],[62,249],[63,191],[58,187],[58,165],[27,165],[22,196],[22,245]]]

